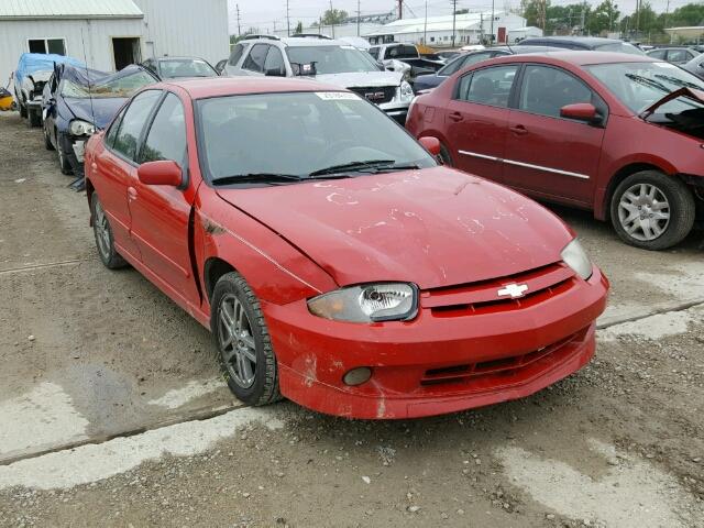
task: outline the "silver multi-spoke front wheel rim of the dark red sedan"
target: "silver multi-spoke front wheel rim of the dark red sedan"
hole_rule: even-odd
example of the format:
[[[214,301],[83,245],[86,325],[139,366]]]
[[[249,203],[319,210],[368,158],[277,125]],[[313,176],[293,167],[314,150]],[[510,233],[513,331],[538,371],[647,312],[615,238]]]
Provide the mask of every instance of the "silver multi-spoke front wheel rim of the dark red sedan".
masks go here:
[[[632,239],[641,242],[656,240],[670,226],[670,202],[654,185],[634,185],[620,197],[618,220]]]

